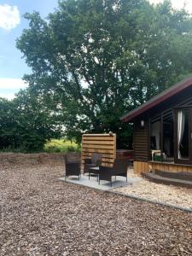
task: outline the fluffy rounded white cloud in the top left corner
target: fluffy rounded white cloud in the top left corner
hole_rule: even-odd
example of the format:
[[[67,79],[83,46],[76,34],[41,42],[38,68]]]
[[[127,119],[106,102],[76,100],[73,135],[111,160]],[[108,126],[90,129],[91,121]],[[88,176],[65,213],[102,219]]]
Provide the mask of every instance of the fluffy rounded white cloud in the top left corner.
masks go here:
[[[20,24],[20,11],[17,6],[0,4],[0,27],[5,30],[15,28]]]

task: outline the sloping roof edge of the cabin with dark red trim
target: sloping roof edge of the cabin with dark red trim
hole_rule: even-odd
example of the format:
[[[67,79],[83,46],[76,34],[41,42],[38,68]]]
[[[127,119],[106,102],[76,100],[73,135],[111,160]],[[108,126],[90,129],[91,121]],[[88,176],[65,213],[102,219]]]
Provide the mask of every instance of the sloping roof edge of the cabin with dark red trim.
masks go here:
[[[178,92],[188,88],[192,85],[192,77],[190,76],[188,79],[184,79],[181,82],[173,85],[172,87],[168,88],[167,90],[162,91],[157,96],[151,98],[148,102],[143,103],[139,107],[131,110],[129,113],[123,115],[120,120],[123,122],[130,122],[132,119],[136,118],[141,113],[146,112],[150,108],[154,108],[161,102],[166,101],[171,96],[176,95]]]

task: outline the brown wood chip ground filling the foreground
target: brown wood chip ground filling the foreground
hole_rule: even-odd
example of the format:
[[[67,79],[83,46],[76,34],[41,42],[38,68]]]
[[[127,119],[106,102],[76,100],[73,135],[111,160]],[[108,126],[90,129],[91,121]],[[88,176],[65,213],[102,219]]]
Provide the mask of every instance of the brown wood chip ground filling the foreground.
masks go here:
[[[192,255],[192,214],[61,182],[61,155],[0,156],[0,255]]]

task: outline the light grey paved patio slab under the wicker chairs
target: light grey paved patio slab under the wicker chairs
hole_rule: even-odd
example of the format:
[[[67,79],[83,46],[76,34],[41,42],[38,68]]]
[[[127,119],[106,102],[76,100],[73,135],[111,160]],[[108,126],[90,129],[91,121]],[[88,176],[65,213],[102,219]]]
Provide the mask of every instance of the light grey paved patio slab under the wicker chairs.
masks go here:
[[[97,182],[96,176],[90,176],[90,179],[88,175],[81,175],[80,179],[77,176],[70,176],[67,177],[65,180],[65,177],[59,177],[59,180],[66,181],[67,183],[74,183],[79,184],[85,187],[93,188],[93,189],[100,189],[100,190],[109,190],[109,189],[115,189],[119,187],[123,187],[129,184],[137,183],[141,177],[128,177],[127,183],[125,177],[117,176],[116,180],[115,177],[113,177],[113,183],[111,187],[111,183],[105,180],[101,180],[100,184]]]

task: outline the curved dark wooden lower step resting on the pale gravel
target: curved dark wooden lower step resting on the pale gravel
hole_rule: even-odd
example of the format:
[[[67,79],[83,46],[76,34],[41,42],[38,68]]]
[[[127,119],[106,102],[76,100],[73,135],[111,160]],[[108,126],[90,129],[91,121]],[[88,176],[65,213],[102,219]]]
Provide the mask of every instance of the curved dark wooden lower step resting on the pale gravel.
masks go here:
[[[172,184],[172,185],[187,187],[192,189],[192,181],[186,181],[186,180],[171,178],[171,177],[161,177],[155,173],[147,173],[144,175],[144,177],[148,178],[150,181],[153,181],[155,183],[165,183],[170,185]]]

